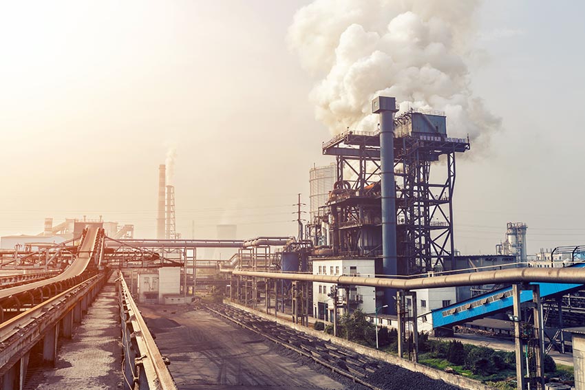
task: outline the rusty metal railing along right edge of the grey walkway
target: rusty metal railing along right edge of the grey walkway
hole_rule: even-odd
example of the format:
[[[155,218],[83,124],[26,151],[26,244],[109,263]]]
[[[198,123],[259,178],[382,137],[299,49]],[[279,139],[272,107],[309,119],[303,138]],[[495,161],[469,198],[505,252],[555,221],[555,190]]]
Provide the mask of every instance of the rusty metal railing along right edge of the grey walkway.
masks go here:
[[[125,389],[177,390],[167,368],[169,360],[160,354],[120,271],[118,283]]]

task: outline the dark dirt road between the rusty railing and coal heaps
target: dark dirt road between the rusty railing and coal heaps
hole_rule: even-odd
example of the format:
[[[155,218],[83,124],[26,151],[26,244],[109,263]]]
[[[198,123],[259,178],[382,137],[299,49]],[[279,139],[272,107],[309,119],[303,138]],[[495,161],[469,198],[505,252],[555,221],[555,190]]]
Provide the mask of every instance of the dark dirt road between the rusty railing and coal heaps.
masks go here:
[[[345,389],[345,384],[282,356],[265,338],[211,316],[204,310],[140,307],[156,334],[178,388],[191,389]],[[166,318],[165,318],[166,317]]]

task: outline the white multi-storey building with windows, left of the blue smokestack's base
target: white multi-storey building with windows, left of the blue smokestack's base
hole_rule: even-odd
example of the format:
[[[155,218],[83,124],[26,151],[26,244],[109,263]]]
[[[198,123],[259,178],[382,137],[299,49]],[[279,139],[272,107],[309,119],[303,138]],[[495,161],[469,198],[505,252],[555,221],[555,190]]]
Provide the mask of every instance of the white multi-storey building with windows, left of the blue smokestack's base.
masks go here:
[[[313,258],[312,268],[315,275],[374,277],[375,274],[374,259]],[[333,292],[334,287],[334,283],[313,283],[312,315],[315,318],[332,321],[334,299],[329,294]],[[337,296],[338,307],[340,307],[338,314],[341,315],[348,305],[347,291],[339,288]],[[350,288],[349,298],[350,310],[361,309],[364,313],[376,311],[376,289],[373,287]]]

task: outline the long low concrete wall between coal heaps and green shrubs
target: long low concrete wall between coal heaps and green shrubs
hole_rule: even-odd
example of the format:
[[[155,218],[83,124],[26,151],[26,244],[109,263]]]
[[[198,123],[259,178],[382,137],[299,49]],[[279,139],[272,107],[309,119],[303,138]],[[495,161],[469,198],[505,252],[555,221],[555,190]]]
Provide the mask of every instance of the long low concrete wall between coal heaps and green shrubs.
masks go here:
[[[438,369],[434,369],[431,367],[423,366],[415,362],[411,362],[410,360],[398,358],[398,356],[394,356],[391,354],[387,354],[382,351],[378,351],[377,349],[372,349],[368,347],[364,347],[363,345],[359,345],[356,343],[351,343],[348,340],[343,338],[334,337],[330,334],[326,334],[325,332],[319,332],[315,329],[310,329],[308,327],[304,327],[301,325],[293,324],[287,320],[282,318],[275,318],[274,316],[270,316],[268,314],[264,314],[262,312],[258,312],[257,310],[252,310],[249,307],[245,307],[243,305],[238,305],[237,303],[233,303],[228,300],[224,300],[224,303],[227,305],[231,305],[233,307],[237,307],[241,310],[246,310],[246,312],[251,312],[259,317],[262,317],[268,321],[276,321],[281,325],[288,326],[292,329],[298,330],[299,332],[305,332],[310,336],[314,336],[320,338],[321,340],[330,341],[333,344],[340,345],[341,347],[345,347],[348,349],[352,349],[352,351],[356,351],[358,354],[362,354],[365,356],[370,356],[370,358],[383,360],[384,362],[390,363],[392,365],[397,365],[399,367],[403,367],[410,371],[420,372],[424,375],[428,376],[432,379],[443,380],[449,384],[454,384],[455,386],[461,387],[462,389],[470,389],[470,390],[495,390],[493,387],[486,386],[482,384],[478,380],[473,380],[469,378],[465,378],[463,376],[458,376],[453,373],[446,373],[445,371],[440,371]]]

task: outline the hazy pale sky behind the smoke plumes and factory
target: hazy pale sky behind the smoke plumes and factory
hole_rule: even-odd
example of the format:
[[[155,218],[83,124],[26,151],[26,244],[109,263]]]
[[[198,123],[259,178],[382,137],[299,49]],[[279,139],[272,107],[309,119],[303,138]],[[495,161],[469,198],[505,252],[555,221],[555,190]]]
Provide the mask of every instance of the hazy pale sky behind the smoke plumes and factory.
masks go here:
[[[0,3],[0,235],[43,218],[156,228],[158,164],[169,147],[177,230],[295,235],[296,194],[328,164],[286,34],[310,1]],[[502,118],[481,156],[457,166],[456,246],[493,252],[507,221],[529,252],[585,243],[582,116],[585,6],[489,1],[469,59],[474,94]]]

